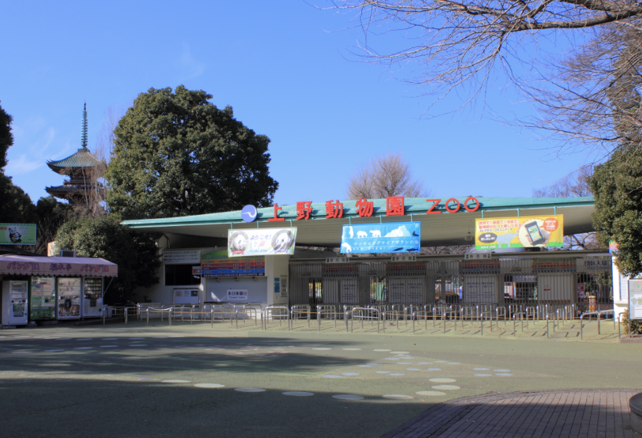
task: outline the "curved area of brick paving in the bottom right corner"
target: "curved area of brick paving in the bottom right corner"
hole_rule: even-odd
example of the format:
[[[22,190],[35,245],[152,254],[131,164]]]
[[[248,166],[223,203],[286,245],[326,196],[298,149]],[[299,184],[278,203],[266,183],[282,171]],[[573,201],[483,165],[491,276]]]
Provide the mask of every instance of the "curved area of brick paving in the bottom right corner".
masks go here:
[[[440,403],[382,438],[641,438],[631,428],[636,389],[529,391]]]

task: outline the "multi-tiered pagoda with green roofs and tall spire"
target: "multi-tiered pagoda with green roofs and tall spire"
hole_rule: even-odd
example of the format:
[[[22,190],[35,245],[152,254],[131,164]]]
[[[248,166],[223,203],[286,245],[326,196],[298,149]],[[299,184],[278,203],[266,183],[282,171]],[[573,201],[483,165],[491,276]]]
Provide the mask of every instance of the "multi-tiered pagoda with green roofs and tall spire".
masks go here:
[[[98,160],[87,149],[87,103],[82,111],[81,147],[72,156],[58,161],[47,161],[54,172],[69,176],[62,186],[46,187],[47,193],[60,199],[67,199],[70,205],[87,206],[90,199],[102,198],[103,184],[97,181],[107,163]]]

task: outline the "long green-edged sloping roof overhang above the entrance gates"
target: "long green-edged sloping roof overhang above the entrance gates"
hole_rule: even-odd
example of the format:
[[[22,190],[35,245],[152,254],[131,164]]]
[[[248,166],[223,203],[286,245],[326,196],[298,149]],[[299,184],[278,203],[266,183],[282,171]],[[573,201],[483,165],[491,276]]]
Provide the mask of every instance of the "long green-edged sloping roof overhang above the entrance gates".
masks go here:
[[[241,211],[211,213],[178,218],[126,220],[124,225],[149,232],[209,236],[227,239],[229,229],[297,227],[297,246],[322,246],[336,248],[341,245],[343,225],[357,225],[373,222],[421,222],[421,246],[470,245],[466,241],[468,232],[475,234],[475,219],[506,218],[516,216],[564,215],[564,234],[581,234],[595,231],[591,215],[595,211],[592,197],[574,198],[484,198],[479,197],[479,209],[466,211],[466,198],[454,198],[461,208],[456,213],[445,209],[445,199],[433,211],[426,214],[434,201],[426,198],[406,198],[404,216],[386,216],[386,199],[373,199],[374,213],[370,218],[357,216],[356,201],[343,202],[343,218],[326,219],[325,203],[313,203],[309,220],[296,220],[297,207],[285,205],[278,211],[280,222],[269,222],[274,218],[274,208],[257,209],[255,222],[244,222]],[[468,201],[468,206],[474,202]],[[454,209],[451,202],[451,210]],[[472,208],[471,208],[472,209]]]

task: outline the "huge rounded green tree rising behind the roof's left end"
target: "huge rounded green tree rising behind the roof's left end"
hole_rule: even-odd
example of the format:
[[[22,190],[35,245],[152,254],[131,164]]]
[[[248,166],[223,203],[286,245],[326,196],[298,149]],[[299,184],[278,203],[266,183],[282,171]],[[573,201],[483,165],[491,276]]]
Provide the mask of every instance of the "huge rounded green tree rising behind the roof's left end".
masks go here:
[[[267,206],[269,138],[184,86],[141,93],[114,130],[105,172],[110,211],[125,219],[164,218]]]

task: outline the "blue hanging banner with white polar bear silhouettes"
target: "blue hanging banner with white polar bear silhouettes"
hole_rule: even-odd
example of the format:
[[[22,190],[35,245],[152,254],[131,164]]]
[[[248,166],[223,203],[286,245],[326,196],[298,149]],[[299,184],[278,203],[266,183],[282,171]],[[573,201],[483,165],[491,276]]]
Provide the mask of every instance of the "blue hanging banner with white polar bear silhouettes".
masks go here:
[[[420,222],[343,225],[341,252],[419,252]]]

